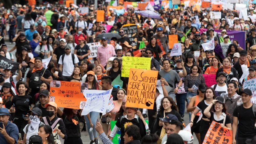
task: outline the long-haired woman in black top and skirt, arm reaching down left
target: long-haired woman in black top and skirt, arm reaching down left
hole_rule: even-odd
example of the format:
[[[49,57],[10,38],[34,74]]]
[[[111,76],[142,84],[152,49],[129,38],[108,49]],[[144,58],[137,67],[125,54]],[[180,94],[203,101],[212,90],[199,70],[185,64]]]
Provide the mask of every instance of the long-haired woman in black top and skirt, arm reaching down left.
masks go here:
[[[190,126],[193,126],[193,124],[194,124],[193,121],[194,121],[195,115],[199,111],[201,111],[201,113],[203,114],[200,129],[199,129],[201,142],[203,142],[206,132],[210,127],[210,120],[206,117],[206,115],[204,115],[204,110],[206,109],[206,107],[208,107],[211,104],[211,102],[215,98],[216,98],[216,95],[215,95],[214,89],[211,87],[206,88],[203,101],[200,101],[197,104],[197,107],[195,107],[195,110],[191,115]]]

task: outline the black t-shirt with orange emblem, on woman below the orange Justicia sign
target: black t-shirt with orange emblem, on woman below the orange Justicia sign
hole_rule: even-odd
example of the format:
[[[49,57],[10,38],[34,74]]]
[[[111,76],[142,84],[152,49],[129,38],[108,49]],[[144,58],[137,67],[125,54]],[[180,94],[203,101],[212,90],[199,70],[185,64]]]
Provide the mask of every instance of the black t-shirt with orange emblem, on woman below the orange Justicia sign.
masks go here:
[[[69,120],[65,113],[63,113],[61,117],[66,127],[67,136],[81,137],[78,117],[75,116]],[[75,121],[77,121],[76,125],[75,125]]]

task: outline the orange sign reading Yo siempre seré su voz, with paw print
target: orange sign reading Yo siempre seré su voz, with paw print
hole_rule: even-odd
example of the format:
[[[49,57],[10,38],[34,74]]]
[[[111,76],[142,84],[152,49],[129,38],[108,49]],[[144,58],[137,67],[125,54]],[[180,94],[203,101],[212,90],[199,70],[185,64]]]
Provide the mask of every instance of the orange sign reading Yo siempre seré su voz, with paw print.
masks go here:
[[[130,69],[126,107],[153,109],[158,71]]]

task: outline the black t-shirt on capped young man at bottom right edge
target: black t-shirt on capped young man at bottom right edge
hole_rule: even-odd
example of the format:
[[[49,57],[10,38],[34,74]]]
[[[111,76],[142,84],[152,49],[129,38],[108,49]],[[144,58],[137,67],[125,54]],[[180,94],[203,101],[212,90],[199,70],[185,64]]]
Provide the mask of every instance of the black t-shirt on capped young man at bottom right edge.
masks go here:
[[[238,117],[239,121],[238,137],[252,138],[256,135],[256,129],[254,129],[255,117],[253,115],[252,106],[245,108],[243,104],[241,104],[241,106],[235,108],[233,116]]]

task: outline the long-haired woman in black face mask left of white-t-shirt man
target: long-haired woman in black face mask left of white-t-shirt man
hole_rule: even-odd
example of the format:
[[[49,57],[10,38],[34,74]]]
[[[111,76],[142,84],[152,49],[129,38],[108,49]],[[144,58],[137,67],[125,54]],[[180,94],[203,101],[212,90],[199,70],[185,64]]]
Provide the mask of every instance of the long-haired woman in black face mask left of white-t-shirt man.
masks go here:
[[[57,61],[51,59],[47,69],[51,72],[53,81],[62,81],[62,72],[57,68],[57,66]]]

